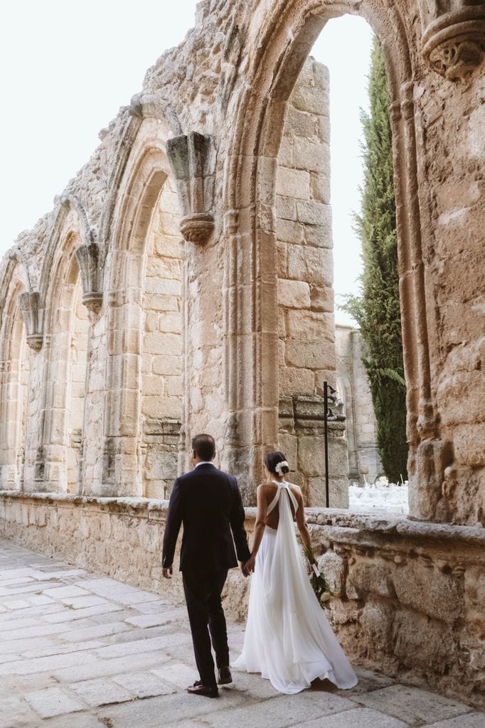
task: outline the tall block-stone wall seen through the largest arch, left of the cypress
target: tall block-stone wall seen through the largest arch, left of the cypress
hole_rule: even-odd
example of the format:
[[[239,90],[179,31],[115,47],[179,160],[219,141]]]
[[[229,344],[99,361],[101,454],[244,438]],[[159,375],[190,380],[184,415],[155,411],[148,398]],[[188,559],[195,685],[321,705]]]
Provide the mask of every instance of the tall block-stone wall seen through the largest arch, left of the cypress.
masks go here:
[[[336,386],[328,69],[309,58],[277,157],[278,446],[307,503],[325,505],[323,382]],[[348,507],[343,425],[329,427],[330,505]]]

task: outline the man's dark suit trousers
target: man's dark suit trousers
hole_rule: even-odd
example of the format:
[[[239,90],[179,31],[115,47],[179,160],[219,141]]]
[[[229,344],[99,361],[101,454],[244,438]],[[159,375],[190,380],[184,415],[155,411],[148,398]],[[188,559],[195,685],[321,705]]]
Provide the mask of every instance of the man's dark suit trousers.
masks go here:
[[[217,667],[229,666],[226,617],[221,603],[227,569],[205,573],[184,569],[182,577],[197,670],[202,683],[214,687],[217,683],[210,652],[211,641],[216,653]]]

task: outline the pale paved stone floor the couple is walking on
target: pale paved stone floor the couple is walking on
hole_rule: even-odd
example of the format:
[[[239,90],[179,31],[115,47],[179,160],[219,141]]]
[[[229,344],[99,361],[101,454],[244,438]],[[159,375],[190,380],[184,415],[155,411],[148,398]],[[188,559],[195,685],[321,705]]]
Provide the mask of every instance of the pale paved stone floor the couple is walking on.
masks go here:
[[[236,654],[240,625],[229,643]],[[358,676],[287,696],[235,673],[218,700],[188,695],[184,605],[0,541],[0,728],[485,728],[457,700]]]

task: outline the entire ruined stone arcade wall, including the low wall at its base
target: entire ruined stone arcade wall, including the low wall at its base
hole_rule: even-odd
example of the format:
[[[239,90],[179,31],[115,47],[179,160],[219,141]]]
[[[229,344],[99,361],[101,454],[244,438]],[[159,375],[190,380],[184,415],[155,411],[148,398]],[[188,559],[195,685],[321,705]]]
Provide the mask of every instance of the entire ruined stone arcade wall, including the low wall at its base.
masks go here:
[[[166,490],[160,476],[166,459],[175,471],[176,451],[178,467],[186,467],[194,430],[214,433],[218,462],[238,475],[247,503],[264,452],[283,442],[293,453],[296,447],[302,485],[312,497],[318,475],[311,462],[305,470],[307,445],[321,426],[319,400],[312,397],[320,396],[321,376],[336,376],[326,358],[333,339],[319,337],[328,349],[318,352],[320,366],[311,360],[318,347],[310,322],[320,320],[330,336],[327,301],[319,304],[311,294],[331,290],[312,269],[312,256],[331,256],[331,241],[318,231],[328,247],[307,240],[324,219],[326,181],[323,191],[314,186],[312,197],[301,198],[314,205],[296,204],[296,221],[283,217],[276,195],[278,176],[302,171],[315,178],[318,171],[299,170],[296,128],[292,149],[284,141],[285,124],[289,130],[300,111],[288,100],[321,28],[346,10],[363,15],[378,33],[390,81],[410,520],[387,525],[323,510],[309,519],[316,519],[315,545],[338,557],[327,557],[334,558],[336,583],[345,580],[333,620],[351,654],[410,677],[425,673],[440,688],[475,700],[484,670],[479,614],[485,599],[483,3],[198,5],[196,27],[149,69],[141,94],[101,132],[100,146],[54,210],[20,235],[1,264],[1,533],[68,559],[82,554],[90,568],[127,579],[133,573],[121,556],[141,558],[138,539],[143,547],[151,543],[159,566],[159,535],[150,519],[130,516],[122,524],[115,518],[103,544],[97,529],[110,508],[132,507],[123,496],[138,496],[133,508],[154,513],[155,502],[139,496]],[[318,94],[317,76],[314,86],[303,76],[305,97]],[[316,223],[298,219],[302,211],[316,212]],[[283,240],[283,229],[291,227],[302,237]],[[283,243],[308,276],[301,282],[309,287],[309,304],[304,298],[293,308],[278,299],[278,280],[293,280]],[[87,314],[75,303],[79,279]],[[287,309],[284,328],[278,304]],[[308,326],[301,359],[290,328],[296,318]],[[86,321],[79,435],[79,419],[70,423],[66,403],[82,392],[84,355],[74,357],[72,344],[82,341]],[[173,349],[167,353],[164,344],[160,352],[155,339]],[[278,376],[280,349],[288,371],[301,369],[302,393]],[[155,393],[153,377],[160,381]],[[316,392],[307,389],[312,377]],[[334,437],[344,443],[342,432]],[[79,494],[69,496],[73,451],[82,467]],[[114,505],[100,496],[112,496]],[[63,499],[87,516],[60,513]],[[407,577],[400,580],[401,566]],[[146,563],[149,573],[152,567]],[[152,586],[158,588],[155,581]],[[232,588],[229,599],[239,600]],[[363,652],[357,630],[366,635]],[[446,670],[443,654],[457,658]]]

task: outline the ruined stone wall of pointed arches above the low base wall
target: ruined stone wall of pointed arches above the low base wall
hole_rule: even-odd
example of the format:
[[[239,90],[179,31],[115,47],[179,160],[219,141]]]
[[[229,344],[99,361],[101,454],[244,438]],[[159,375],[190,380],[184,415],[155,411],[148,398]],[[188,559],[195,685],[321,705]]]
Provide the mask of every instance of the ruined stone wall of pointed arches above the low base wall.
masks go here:
[[[148,461],[153,448],[175,454],[173,404],[181,395],[161,395],[164,401],[155,405],[161,409],[156,419],[173,426],[160,434],[147,425],[146,436],[155,440],[143,441],[140,414],[151,396],[141,387],[147,251],[160,194],[171,189],[177,191],[185,238],[180,256],[184,331],[160,334],[183,341],[181,375],[173,375],[181,376],[182,388],[170,384],[174,392],[184,392],[181,450],[186,451],[194,430],[214,432],[221,464],[240,476],[246,501],[253,501],[264,451],[279,442],[280,393],[290,370],[301,369],[302,381],[313,373],[317,395],[321,376],[331,378],[334,371],[326,352],[320,352],[325,336],[316,347],[312,333],[318,322],[325,334],[331,317],[327,302],[319,298],[331,286],[318,284],[320,258],[330,265],[331,256],[330,248],[320,245],[320,227],[328,227],[326,181],[320,180],[320,189],[319,170],[304,159],[314,143],[325,151],[318,144],[325,144],[324,115],[318,114],[320,107],[311,107],[320,103],[322,89],[310,71],[301,76],[299,90],[296,84],[320,29],[344,10],[366,17],[379,34],[390,80],[411,517],[483,521],[484,422],[478,403],[484,387],[480,180],[485,9],[477,3],[290,0],[283,11],[276,0],[200,3],[196,27],[149,69],[141,94],[101,132],[100,146],[68,183],[52,213],[19,237],[2,264],[2,336],[4,318],[21,311],[32,347],[24,488],[63,489],[68,480],[66,405],[56,403],[60,337],[53,334],[53,316],[56,296],[66,285],[67,261],[74,258],[82,301],[90,312],[79,488],[120,496],[166,488]],[[290,102],[293,92],[296,106]],[[304,104],[310,104],[306,111],[297,108]],[[288,143],[285,124],[294,123],[295,111],[322,116],[323,131],[306,138],[295,127]],[[304,118],[309,117],[300,116],[300,122]],[[296,172],[309,179],[311,197],[299,198],[297,220],[283,224],[278,185],[285,174]],[[162,212],[164,219],[174,214]],[[309,215],[316,217],[310,220]],[[288,223],[303,224],[304,245],[279,240],[284,227],[296,232],[298,225]],[[317,237],[310,242],[312,229]],[[296,282],[301,291],[310,288],[309,305],[305,299],[285,312],[285,327],[294,331],[296,320],[303,323],[300,339],[305,343],[297,347],[285,328],[288,369],[283,373],[278,242],[280,253],[283,243],[292,246],[286,264],[280,256],[282,266],[288,266],[284,274],[290,276],[282,282],[294,282],[300,266]],[[173,339],[176,352],[179,342]],[[331,340],[326,344],[330,352],[334,345]],[[7,350],[4,343],[1,347]],[[322,354],[319,364],[328,369],[308,365],[313,350]],[[66,365],[66,357],[61,361]],[[293,404],[293,417],[295,413]],[[1,450],[4,483],[19,482],[11,477],[10,449],[3,445]],[[306,467],[298,452],[296,462]],[[9,469],[10,475],[4,475]],[[303,477],[309,493],[318,491],[318,482],[310,483],[318,475]]]

